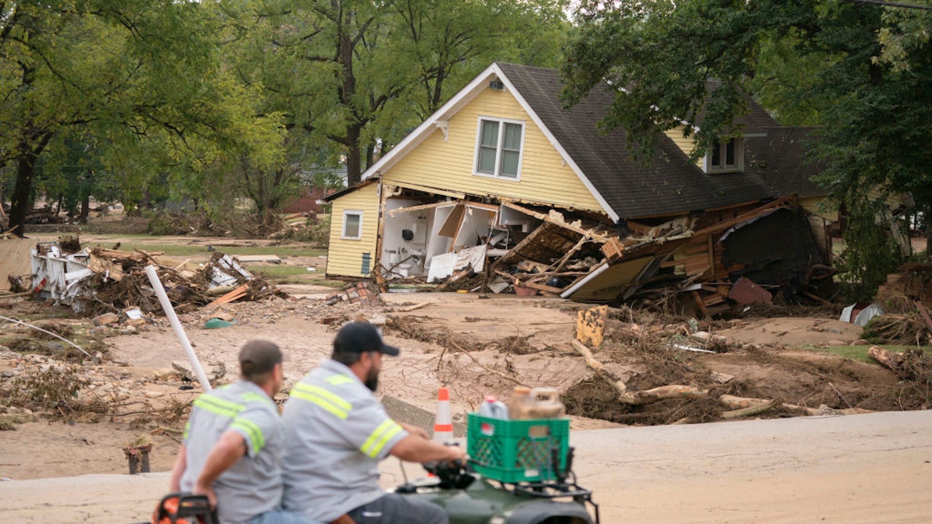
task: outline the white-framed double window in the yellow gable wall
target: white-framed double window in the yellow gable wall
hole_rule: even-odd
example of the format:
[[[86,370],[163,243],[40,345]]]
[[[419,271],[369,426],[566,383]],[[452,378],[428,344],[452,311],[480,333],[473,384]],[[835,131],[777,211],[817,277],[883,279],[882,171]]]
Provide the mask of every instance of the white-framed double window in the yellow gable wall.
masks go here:
[[[517,180],[523,144],[524,122],[480,117],[475,172]]]

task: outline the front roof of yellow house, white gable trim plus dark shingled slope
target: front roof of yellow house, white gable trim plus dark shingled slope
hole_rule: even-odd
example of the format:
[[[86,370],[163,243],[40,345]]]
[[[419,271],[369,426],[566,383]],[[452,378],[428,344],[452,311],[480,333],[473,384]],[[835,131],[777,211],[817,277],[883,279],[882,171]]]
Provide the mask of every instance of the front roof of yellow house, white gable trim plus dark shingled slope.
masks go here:
[[[492,80],[500,80],[511,92],[615,221],[715,209],[783,196],[782,187],[769,184],[760,170],[703,172],[670,138],[659,132],[651,165],[644,166],[630,158],[623,130],[597,131],[598,121],[605,117],[613,100],[614,90],[609,85],[596,86],[580,103],[566,109],[559,100],[563,86],[555,70],[501,62],[492,63],[473,78],[366,170],[363,179],[387,172],[432,132],[438,128],[445,130],[448,119],[486,90]],[[758,110],[752,111],[747,122],[753,131],[771,127],[768,124],[773,124],[773,120],[760,106],[754,103],[752,106]],[[766,144],[761,143],[761,146]],[[761,150],[760,155],[766,159],[767,152]],[[781,160],[784,172],[790,171],[791,164],[787,156]],[[772,178],[774,171],[768,173]]]

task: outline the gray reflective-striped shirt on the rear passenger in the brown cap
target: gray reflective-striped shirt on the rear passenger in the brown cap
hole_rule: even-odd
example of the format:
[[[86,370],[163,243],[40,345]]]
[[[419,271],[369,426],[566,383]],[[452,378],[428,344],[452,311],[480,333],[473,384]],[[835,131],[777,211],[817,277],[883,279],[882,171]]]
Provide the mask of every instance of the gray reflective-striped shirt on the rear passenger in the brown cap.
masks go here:
[[[242,435],[246,454],[213,482],[217,517],[238,524],[281,507],[284,424],[266,392],[246,380],[201,394],[185,428],[187,462],[181,490],[190,491],[207,455],[227,431]]]

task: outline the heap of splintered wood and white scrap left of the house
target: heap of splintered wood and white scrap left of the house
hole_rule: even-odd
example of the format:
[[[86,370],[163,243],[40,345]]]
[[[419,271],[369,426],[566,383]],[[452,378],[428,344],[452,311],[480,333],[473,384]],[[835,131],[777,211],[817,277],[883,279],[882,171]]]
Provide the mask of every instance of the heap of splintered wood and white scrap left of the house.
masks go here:
[[[145,274],[150,265],[178,311],[285,296],[231,255],[215,252],[209,263],[199,265],[160,252],[84,249],[76,238],[37,243],[32,252],[32,282],[26,287],[34,296],[89,315],[134,309],[158,313],[158,296]]]

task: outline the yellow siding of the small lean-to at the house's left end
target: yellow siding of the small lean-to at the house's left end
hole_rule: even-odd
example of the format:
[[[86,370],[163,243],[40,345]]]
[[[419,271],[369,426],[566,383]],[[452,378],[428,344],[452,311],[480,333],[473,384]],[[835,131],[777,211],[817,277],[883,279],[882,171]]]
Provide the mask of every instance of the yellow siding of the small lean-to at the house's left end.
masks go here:
[[[363,253],[369,254],[369,268],[376,267],[376,237],[378,232],[377,184],[360,187],[333,201],[330,215],[330,249],[327,251],[327,274],[347,277],[364,277]],[[363,212],[361,239],[341,239],[343,212]]]

